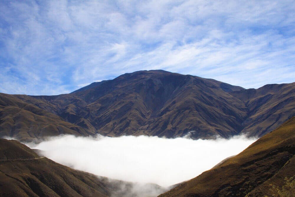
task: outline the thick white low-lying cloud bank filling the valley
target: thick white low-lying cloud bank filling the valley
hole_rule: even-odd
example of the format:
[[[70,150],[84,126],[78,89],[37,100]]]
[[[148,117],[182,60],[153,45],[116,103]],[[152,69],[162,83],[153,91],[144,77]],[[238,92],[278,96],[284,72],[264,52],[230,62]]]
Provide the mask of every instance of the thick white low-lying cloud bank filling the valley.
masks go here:
[[[192,140],[65,135],[27,145],[43,150],[46,157],[77,170],[167,187],[196,177],[224,158],[240,153],[255,140],[245,136]]]

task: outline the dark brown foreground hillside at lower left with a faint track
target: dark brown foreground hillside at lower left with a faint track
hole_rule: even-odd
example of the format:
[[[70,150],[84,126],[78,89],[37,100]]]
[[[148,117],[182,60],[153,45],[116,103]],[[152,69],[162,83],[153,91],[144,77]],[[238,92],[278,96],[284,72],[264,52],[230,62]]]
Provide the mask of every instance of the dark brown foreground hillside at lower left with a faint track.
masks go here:
[[[139,191],[137,191],[139,190]],[[38,156],[15,140],[0,139],[0,196],[157,196],[167,191],[96,176]]]

